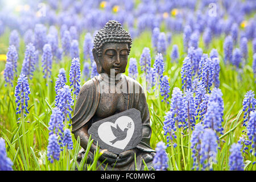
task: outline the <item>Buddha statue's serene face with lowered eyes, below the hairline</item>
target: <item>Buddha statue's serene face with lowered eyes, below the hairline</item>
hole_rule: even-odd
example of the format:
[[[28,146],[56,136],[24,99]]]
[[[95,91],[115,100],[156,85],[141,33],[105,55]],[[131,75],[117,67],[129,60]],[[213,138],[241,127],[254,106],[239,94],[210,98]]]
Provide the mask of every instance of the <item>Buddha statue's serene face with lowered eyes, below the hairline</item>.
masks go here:
[[[124,73],[128,59],[127,43],[106,43],[102,47],[102,56],[99,57],[102,71],[110,75],[110,69],[114,69],[115,75]]]

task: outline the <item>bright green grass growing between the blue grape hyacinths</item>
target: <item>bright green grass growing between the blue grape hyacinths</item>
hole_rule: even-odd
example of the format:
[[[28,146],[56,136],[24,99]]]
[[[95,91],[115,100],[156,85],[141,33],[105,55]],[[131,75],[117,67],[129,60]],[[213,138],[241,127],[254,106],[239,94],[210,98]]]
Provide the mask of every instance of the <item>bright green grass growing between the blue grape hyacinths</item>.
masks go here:
[[[10,30],[7,30],[5,34],[0,37],[0,54],[6,54],[8,48]],[[83,68],[84,60],[82,59],[82,42],[84,40],[85,32],[80,36],[80,63],[81,69]],[[213,170],[229,170],[229,148],[237,142],[242,135],[242,131],[245,127],[242,126],[243,112],[242,112],[242,100],[245,93],[249,90],[255,90],[255,78],[253,76],[253,69],[251,67],[253,61],[253,51],[251,42],[249,42],[249,58],[245,67],[241,73],[232,65],[225,65],[223,61],[223,43],[225,36],[220,38],[214,38],[213,42],[208,48],[204,47],[203,41],[200,40],[199,47],[203,49],[204,53],[209,53],[212,48],[216,48],[220,55],[220,89],[223,93],[224,100],[224,135],[220,137],[220,143],[218,146],[217,163],[213,164]],[[177,44],[179,47],[179,61],[173,63],[170,59],[170,53],[172,46]],[[155,53],[151,47],[151,34],[148,31],[143,32],[138,38],[133,40],[130,57],[135,57],[139,65],[139,57],[141,56],[144,47],[151,49],[152,62],[154,64]],[[18,60],[18,74],[22,68],[22,61],[24,58],[24,42],[20,43],[19,60]],[[172,43],[167,49],[167,56],[165,57],[165,72],[170,78],[171,93],[174,87],[181,88],[180,71],[182,67],[182,61],[186,53],[183,50],[183,36],[181,34],[172,35]],[[66,75],[68,76],[69,68],[71,66],[71,59],[64,57],[59,63],[53,63],[52,76],[48,80],[48,86],[46,86],[46,80],[43,78],[42,68],[39,67],[34,72],[32,80],[29,80],[31,94],[30,101],[28,102],[28,110],[26,118],[23,118],[24,122],[17,122],[18,115],[15,114],[15,96],[14,88],[17,82],[17,76],[14,78],[14,87],[5,85],[3,75],[0,76],[0,137],[4,138],[7,144],[7,155],[13,161],[14,170],[78,170],[84,169],[85,158],[81,160],[81,163],[77,163],[77,154],[80,151],[80,140],[73,139],[73,150],[67,150],[64,148],[61,152],[60,160],[55,160],[54,163],[50,163],[47,159],[47,145],[48,145],[48,122],[51,115],[51,109],[55,104],[55,80],[60,68],[65,68]],[[127,65],[127,68],[129,65]],[[0,72],[5,69],[5,61],[0,61]],[[138,66],[138,71],[141,73],[141,69]],[[127,74],[127,71],[125,73]],[[52,82],[51,82],[52,81]],[[81,85],[85,82],[81,80]],[[69,82],[67,83],[69,85]],[[170,93],[170,96],[171,96]],[[170,105],[165,102],[161,102],[162,97],[158,97],[155,100],[149,99],[150,94],[147,93],[147,104],[150,110],[151,121],[151,147],[155,148],[156,144],[160,141],[166,143],[166,137],[163,135],[163,121],[166,111],[170,109]],[[168,98],[170,101],[170,97]],[[198,123],[199,121],[197,121]],[[69,121],[70,123],[70,121]],[[168,147],[166,152],[168,154],[168,169],[169,170],[191,170],[192,158],[190,148],[190,134],[188,131],[177,129],[177,138],[174,142],[177,143],[177,147],[172,145]],[[88,154],[90,144],[93,140],[90,140],[86,154]],[[88,165],[86,169],[95,170],[97,159],[100,157],[98,150],[94,154],[94,162]],[[245,170],[255,170],[253,161],[255,157],[248,154],[244,155]],[[145,168],[147,169],[147,167]]]

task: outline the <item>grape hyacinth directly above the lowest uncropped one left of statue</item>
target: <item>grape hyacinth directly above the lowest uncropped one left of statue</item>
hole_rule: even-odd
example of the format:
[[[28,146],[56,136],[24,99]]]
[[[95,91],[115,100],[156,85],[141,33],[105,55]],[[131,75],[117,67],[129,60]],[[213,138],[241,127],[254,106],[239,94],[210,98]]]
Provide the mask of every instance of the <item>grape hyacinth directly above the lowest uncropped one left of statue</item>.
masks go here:
[[[49,135],[52,135],[52,134],[59,135],[61,140],[63,139],[63,132],[64,132],[63,118],[64,118],[64,115],[58,107],[55,107],[52,109],[52,114],[49,120],[49,127],[48,127],[50,131]],[[61,142],[61,140],[59,141],[59,143]]]

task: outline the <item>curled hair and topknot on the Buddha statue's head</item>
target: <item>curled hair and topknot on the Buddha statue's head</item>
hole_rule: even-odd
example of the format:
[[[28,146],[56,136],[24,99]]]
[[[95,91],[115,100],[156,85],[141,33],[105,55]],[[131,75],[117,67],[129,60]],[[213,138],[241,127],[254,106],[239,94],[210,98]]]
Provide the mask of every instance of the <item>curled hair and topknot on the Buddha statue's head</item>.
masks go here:
[[[127,43],[129,53],[131,49],[131,36],[129,32],[125,31],[121,23],[116,20],[109,20],[104,28],[97,32],[94,36],[93,44],[96,48],[98,56],[102,54],[102,46],[105,43]]]

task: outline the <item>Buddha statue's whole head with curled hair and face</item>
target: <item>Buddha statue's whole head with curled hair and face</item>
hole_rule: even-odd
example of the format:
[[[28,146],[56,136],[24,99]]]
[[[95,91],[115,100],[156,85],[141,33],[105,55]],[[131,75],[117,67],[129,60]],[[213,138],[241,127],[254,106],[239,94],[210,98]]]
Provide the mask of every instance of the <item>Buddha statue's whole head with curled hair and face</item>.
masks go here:
[[[94,36],[93,44],[93,57],[98,73],[110,75],[110,69],[114,69],[115,75],[125,72],[131,49],[131,36],[121,23],[109,20]]]

